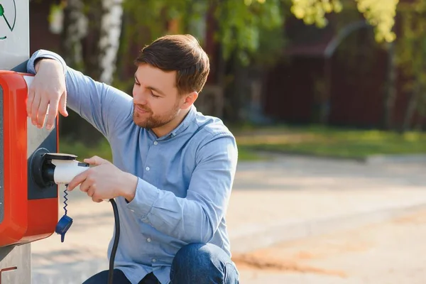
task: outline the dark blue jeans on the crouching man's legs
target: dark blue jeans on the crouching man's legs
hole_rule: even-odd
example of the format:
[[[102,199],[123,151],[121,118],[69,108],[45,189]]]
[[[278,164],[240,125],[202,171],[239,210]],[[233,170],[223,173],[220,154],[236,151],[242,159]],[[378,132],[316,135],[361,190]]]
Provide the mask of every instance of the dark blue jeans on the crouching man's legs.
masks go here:
[[[102,271],[83,284],[105,284],[108,271]],[[114,270],[114,283],[130,283],[124,273]],[[138,284],[157,284],[155,275],[148,274]],[[170,284],[239,284],[239,273],[231,258],[213,244],[188,244],[176,253],[170,270]]]

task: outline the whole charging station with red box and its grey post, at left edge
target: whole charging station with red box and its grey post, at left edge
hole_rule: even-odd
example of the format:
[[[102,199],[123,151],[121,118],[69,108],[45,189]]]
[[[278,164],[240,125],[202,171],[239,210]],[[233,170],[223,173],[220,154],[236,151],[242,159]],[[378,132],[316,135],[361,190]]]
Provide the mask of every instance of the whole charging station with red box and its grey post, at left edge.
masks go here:
[[[40,165],[58,153],[58,119],[48,131],[26,113],[29,10],[28,0],[0,1],[0,284],[31,284],[31,243],[58,224],[58,185]]]

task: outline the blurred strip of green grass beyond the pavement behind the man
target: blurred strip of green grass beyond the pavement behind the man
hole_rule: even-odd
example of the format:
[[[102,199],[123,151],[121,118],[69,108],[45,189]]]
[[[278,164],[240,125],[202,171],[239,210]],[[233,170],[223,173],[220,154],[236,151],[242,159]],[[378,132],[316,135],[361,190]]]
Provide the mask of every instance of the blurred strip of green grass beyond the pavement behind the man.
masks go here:
[[[261,160],[259,151],[297,153],[332,158],[364,159],[369,155],[401,155],[426,153],[426,133],[404,135],[388,131],[325,128],[321,126],[265,128],[244,127],[233,130],[239,146],[239,160]],[[83,158],[99,155],[111,160],[106,140],[88,148],[81,142],[60,141],[62,153]]]

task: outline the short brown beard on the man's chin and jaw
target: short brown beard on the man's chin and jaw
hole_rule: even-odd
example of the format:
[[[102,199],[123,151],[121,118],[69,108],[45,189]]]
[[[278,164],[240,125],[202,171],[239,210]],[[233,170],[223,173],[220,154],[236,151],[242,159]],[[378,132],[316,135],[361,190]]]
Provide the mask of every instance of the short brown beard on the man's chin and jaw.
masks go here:
[[[175,106],[173,106],[173,109],[162,115],[153,114],[151,109],[148,109],[148,107],[146,106],[138,105],[138,107],[143,109],[144,111],[148,111],[148,113],[146,114],[139,114],[138,111],[136,111],[136,104],[134,104],[133,122],[143,129],[156,129],[158,127],[164,126],[170,121],[173,121],[173,119],[175,119],[176,116],[178,116],[179,114],[178,104],[175,104]]]

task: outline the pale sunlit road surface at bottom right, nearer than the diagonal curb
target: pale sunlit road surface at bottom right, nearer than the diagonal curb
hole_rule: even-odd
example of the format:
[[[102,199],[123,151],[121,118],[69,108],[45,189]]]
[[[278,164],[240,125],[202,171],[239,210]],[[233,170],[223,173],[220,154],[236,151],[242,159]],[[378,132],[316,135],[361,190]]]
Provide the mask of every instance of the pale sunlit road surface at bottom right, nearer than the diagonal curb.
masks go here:
[[[241,283],[424,284],[426,211],[234,256]]]

